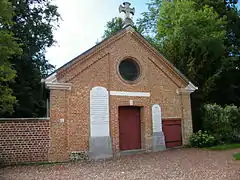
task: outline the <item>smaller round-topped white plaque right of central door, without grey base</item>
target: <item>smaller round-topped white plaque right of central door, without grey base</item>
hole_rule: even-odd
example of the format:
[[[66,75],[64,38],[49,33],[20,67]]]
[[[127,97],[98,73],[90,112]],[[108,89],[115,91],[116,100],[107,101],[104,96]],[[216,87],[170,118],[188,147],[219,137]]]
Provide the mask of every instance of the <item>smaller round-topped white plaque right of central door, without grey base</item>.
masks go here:
[[[162,132],[162,115],[158,104],[152,106],[152,125],[153,132]]]

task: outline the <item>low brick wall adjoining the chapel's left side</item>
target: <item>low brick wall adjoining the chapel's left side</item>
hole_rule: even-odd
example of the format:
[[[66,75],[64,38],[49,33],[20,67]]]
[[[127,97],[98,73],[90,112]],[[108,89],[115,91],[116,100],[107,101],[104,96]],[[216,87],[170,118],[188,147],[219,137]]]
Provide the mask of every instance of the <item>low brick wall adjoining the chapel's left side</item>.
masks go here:
[[[48,161],[49,119],[1,119],[0,163]]]

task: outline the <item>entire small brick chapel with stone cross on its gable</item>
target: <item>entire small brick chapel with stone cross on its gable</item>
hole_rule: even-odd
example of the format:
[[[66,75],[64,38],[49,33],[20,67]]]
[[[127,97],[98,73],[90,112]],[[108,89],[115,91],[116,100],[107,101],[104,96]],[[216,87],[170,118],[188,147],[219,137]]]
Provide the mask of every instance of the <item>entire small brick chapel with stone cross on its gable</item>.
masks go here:
[[[186,145],[195,87],[132,28],[125,27],[57,69],[50,89],[49,161],[105,159]]]

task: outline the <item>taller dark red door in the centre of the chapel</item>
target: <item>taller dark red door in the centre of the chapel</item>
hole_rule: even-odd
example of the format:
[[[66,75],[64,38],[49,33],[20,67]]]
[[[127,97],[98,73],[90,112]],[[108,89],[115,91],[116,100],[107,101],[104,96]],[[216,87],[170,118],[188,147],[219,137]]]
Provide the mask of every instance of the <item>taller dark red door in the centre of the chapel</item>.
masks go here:
[[[140,108],[119,107],[120,150],[141,149]]]

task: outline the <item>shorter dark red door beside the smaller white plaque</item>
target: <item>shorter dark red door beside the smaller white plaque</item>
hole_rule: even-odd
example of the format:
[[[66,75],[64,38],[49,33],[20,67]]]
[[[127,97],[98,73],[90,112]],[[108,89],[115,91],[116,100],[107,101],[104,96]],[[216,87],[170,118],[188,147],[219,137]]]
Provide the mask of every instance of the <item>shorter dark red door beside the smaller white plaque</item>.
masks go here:
[[[167,148],[182,145],[181,119],[163,119],[163,132]]]

